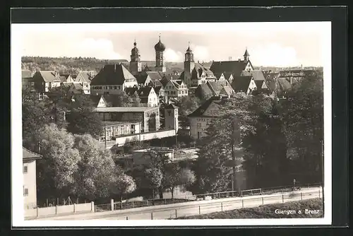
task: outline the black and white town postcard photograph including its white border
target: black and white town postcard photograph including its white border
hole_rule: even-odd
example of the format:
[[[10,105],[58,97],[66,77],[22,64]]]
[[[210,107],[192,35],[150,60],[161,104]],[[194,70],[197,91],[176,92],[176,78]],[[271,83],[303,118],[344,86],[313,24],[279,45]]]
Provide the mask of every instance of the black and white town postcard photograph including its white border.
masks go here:
[[[13,224],[330,224],[330,66],[330,22],[13,23]]]

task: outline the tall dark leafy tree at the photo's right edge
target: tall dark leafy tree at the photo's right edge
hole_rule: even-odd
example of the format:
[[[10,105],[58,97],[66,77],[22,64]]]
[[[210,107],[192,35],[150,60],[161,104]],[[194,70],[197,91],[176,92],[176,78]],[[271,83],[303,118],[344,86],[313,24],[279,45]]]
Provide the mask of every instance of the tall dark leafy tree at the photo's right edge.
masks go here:
[[[322,180],[323,77],[307,76],[282,100],[294,178]]]

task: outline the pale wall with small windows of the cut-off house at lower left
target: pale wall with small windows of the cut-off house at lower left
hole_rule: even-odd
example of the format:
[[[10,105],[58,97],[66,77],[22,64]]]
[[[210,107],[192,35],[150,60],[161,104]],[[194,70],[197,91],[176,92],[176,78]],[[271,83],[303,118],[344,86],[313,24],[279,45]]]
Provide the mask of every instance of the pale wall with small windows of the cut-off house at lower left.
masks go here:
[[[37,206],[37,175],[35,160],[25,161],[23,160],[23,198],[25,203],[25,209],[34,208]],[[25,173],[25,167],[27,167],[27,173]],[[25,196],[25,189],[28,189],[28,195]]]

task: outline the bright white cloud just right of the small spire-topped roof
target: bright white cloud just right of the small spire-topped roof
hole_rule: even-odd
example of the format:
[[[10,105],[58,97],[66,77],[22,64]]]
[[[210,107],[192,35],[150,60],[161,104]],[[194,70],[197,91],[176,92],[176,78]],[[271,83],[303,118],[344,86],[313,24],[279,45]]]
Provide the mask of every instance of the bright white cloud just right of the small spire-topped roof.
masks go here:
[[[287,66],[299,65],[294,47],[283,47],[269,44],[261,47],[248,48],[250,59],[256,66]]]

